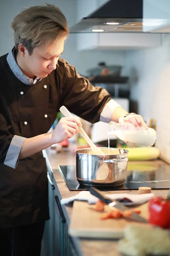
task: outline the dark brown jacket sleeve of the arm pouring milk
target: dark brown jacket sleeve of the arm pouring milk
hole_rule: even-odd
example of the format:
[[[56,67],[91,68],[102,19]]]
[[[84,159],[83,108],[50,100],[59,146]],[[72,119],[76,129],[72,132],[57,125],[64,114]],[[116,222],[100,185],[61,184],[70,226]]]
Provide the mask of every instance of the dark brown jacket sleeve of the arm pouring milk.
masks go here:
[[[110,94],[102,87],[94,87],[67,61],[60,61],[59,66],[57,70],[60,81],[59,108],[65,105],[77,116],[91,123],[98,122],[103,108],[111,100]]]

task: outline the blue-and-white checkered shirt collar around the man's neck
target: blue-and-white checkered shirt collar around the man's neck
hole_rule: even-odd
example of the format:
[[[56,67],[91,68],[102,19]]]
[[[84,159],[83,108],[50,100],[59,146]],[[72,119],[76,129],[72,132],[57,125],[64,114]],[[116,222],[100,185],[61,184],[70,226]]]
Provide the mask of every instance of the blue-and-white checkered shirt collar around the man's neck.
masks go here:
[[[11,68],[12,72],[14,73],[14,75],[17,77],[17,79],[19,79],[20,81],[22,81],[24,84],[35,84],[37,82],[39,82],[41,79],[36,77],[34,80],[32,78],[29,78],[28,76],[26,76],[23,71],[20,69],[20,67],[18,66],[17,62],[15,61],[14,58],[14,48],[11,49],[11,51],[8,53],[7,55],[7,61],[9,64],[9,67]]]

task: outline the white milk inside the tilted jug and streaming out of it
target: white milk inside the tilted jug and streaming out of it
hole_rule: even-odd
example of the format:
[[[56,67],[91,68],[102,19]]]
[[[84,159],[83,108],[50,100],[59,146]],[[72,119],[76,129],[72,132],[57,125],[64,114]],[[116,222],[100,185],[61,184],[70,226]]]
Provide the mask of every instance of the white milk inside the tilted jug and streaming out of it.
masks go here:
[[[109,137],[111,134],[116,135],[120,140],[145,146],[152,146],[156,141],[156,131],[152,128],[148,128],[148,130],[140,128],[136,131],[119,129],[117,131],[108,132],[108,148],[110,145]]]

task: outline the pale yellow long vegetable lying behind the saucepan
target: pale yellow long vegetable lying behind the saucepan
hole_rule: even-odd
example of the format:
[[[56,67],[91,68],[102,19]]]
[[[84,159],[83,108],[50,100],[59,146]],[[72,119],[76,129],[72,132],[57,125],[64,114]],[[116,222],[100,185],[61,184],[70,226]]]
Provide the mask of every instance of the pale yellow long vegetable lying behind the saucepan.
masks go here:
[[[131,161],[153,160],[160,157],[161,152],[155,147],[125,148],[129,151],[127,157]]]

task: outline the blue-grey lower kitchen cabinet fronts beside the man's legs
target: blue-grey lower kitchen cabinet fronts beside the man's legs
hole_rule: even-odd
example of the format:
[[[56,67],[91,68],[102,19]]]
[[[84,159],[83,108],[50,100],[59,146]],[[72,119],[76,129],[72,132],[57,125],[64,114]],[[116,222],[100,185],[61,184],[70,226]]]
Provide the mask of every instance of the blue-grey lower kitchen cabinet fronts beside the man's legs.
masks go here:
[[[59,201],[59,191],[57,185],[54,185],[52,175],[50,180],[48,183],[50,220],[45,224],[41,256],[76,256],[73,242],[68,235],[68,223]]]

